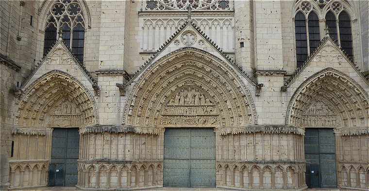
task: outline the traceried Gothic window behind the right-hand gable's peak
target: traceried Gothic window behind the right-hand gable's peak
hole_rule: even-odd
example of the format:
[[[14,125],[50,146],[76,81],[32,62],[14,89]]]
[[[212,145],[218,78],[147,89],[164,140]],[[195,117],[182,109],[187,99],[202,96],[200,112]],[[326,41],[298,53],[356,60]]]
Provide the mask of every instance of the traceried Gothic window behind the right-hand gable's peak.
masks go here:
[[[351,18],[349,4],[338,0],[298,0],[295,4],[296,60],[300,67],[317,48],[326,27],[332,39],[353,61]],[[305,24],[302,22],[305,19]],[[305,26],[305,30],[302,29]],[[307,42],[306,45],[303,42]],[[307,51],[305,51],[305,48]]]

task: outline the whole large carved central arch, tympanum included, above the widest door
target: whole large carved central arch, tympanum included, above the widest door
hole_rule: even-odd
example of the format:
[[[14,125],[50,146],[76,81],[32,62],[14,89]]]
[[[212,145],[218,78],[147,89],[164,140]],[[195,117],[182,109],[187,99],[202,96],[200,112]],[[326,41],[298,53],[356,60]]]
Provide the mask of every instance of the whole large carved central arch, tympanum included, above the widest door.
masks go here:
[[[257,124],[250,92],[234,69],[188,47],[164,56],[139,75],[124,112],[123,124],[141,127]]]

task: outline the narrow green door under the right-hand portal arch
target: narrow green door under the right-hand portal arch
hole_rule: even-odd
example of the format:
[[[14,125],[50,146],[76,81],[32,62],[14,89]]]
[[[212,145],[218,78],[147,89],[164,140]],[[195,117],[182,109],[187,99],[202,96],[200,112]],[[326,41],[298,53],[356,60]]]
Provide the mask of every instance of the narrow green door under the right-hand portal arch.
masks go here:
[[[305,129],[306,185],[336,188],[335,134],[329,128]]]

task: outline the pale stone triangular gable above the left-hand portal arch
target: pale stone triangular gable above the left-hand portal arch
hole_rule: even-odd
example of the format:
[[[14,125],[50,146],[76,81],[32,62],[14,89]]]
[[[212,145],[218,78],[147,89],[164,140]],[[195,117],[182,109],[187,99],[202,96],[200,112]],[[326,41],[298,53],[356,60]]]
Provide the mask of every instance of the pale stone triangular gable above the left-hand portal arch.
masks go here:
[[[93,90],[93,88],[97,86],[95,79],[93,79],[86,68],[79,63],[77,58],[71,53],[71,50],[59,37],[49,53],[39,62],[34,72],[26,78],[24,83],[22,83],[21,88],[28,87],[37,78],[53,70],[63,71],[76,77],[90,90]]]

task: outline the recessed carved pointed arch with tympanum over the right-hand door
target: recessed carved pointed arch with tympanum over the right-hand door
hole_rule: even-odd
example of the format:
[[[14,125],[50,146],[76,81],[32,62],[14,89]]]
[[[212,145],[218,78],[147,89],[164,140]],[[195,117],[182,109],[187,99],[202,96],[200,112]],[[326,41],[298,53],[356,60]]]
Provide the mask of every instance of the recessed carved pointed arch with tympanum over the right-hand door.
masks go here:
[[[286,124],[364,133],[368,132],[368,109],[365,90],[346,74],[327,68],[308,78],[295,92]]]

